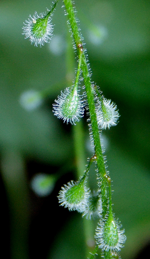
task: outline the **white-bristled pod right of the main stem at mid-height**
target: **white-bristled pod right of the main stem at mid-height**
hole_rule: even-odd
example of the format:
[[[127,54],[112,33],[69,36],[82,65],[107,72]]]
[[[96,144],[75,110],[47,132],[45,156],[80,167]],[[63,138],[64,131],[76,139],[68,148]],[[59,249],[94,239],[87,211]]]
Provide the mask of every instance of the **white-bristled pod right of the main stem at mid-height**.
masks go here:
[[[118,123],[118,118],[120,117],[117,105],[115,105],[111,100],[102,98],[98,101],[98,106],[96,107],[97,121],[101,129],[110,128],[111,126],[116,126]]]

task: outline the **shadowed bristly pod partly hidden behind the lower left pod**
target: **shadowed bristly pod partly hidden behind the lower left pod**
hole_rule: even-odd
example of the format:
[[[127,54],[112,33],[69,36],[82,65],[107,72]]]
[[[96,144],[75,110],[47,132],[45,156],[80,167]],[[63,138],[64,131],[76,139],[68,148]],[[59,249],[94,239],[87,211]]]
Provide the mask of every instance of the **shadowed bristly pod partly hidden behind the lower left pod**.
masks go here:
[[[99,197],[99,193],[93,192],[90,194],[87,204],[85,204],[83,210],[82,217],[85,216],[87,219],[95,219],[100,217],[102,213],[102,201],[101,197]]]

